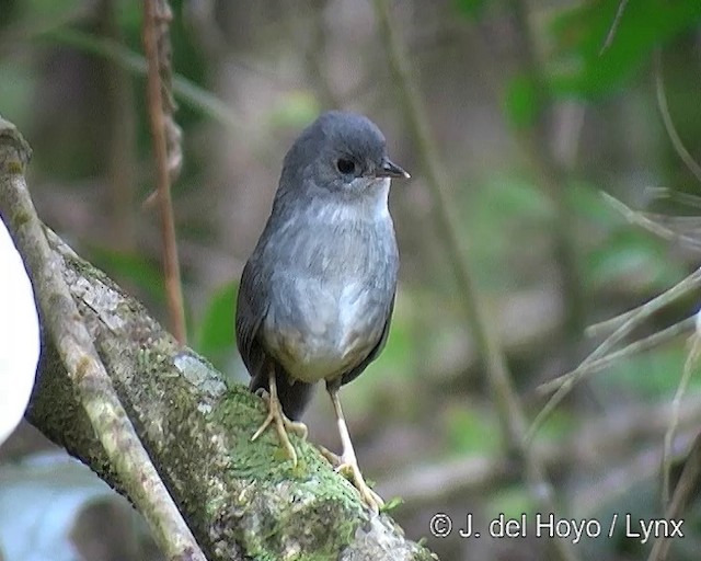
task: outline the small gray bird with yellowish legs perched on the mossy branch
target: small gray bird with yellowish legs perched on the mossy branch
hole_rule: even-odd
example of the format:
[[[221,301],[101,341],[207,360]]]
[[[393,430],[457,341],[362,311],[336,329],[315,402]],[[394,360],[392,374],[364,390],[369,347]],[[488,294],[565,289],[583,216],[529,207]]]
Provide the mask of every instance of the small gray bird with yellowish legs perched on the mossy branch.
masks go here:
[[[251,390],[265,390],[268,415],[292,462],[288,431],[325,380],[347,472],[375,511],[382,500],[358,468],[338,389],[358,377],[387,341],[399,252],[388,209],[391,178],[409,178],[388,158],[384,137],[367,117],[331,111],[285,156],[273,210],[246,262],[237,304],[237,344]]]

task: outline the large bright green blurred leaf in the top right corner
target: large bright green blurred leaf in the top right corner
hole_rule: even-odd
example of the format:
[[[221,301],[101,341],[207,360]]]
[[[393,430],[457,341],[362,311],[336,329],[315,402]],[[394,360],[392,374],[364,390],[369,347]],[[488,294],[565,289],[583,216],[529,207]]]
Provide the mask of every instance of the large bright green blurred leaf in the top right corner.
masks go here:
[[[582,2],[554,19],[550,78],[555,93],[596,98],[620,88],[656,46],[701,20],[699,0],[628,2],[610,47],[599,55],[619,3]]]

